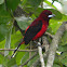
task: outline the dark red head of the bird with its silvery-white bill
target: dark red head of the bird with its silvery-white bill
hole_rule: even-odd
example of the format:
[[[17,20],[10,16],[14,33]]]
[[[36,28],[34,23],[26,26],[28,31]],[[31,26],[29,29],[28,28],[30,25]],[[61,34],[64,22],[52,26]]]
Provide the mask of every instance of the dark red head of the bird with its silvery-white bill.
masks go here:
[[[45,21],[49,21],[50,18],[54,17],[55,15],[52,14],[51,11],[49,10],[44,10],[41,14],[40,14],[40,17],[42,17],[43,19]]]

